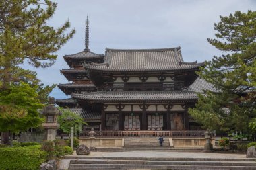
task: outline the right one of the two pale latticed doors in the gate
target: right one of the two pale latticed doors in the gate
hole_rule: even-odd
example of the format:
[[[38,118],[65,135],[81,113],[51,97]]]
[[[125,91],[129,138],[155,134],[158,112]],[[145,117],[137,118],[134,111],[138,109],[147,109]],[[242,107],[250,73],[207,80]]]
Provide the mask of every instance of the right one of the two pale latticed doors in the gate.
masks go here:
[[[148,115],[148,130],[163,130],[164,118],[163,115]]]

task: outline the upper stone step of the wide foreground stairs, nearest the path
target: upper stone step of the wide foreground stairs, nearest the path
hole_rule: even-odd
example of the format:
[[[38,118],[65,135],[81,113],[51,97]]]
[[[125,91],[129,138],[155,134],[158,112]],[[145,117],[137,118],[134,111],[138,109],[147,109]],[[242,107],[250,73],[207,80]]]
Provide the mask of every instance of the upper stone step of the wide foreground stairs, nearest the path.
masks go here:
[[[110,160],[78,159],[71,160],[71,165],[90,164],[124,164],[124,165],[208,165],[208,166],[255,166],[253,161],[146,161],[146,160]]]

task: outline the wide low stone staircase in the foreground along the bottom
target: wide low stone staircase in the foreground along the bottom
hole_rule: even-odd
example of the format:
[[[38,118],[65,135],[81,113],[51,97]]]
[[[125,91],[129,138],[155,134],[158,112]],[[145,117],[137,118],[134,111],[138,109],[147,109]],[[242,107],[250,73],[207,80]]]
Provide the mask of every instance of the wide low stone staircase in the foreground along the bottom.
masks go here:
[[[69,170],[87,169],[173,169],[173,170],[255,170],[255,159],[79,157],[71,159]]]

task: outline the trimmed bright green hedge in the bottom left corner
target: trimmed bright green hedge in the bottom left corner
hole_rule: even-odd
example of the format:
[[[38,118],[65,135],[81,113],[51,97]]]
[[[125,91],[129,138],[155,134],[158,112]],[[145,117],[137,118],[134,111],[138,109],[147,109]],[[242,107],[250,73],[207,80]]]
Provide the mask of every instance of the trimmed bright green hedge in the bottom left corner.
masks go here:
[[[0,148],[0,169],[34,170],[46,161],[46,153],[40,146]]]

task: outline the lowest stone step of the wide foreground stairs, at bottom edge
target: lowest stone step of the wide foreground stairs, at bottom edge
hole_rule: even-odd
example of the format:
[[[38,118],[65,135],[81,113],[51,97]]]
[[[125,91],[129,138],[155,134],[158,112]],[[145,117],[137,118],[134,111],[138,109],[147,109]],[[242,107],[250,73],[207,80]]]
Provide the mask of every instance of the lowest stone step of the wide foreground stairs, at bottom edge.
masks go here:
[[[255,166],[210,166],[210,165],[127,165],[127,164],[71,164],[69,170],[75,169],[187,169],[187,170],[255,170]]]

